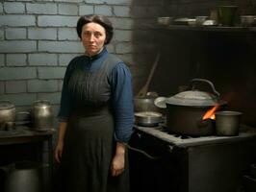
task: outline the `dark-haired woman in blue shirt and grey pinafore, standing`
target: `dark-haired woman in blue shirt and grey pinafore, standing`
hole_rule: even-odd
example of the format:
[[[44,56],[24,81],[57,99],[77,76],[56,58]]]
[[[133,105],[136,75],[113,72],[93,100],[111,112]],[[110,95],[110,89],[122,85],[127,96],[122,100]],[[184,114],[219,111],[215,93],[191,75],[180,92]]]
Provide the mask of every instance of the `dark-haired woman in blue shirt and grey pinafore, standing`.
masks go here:
[[[77,34],[85,55],[67,66],[55,150],[64,190],[129,191],[126,143],[133,126],[131,74],[108,53],[112,23],[102,15],[81,16]]]

